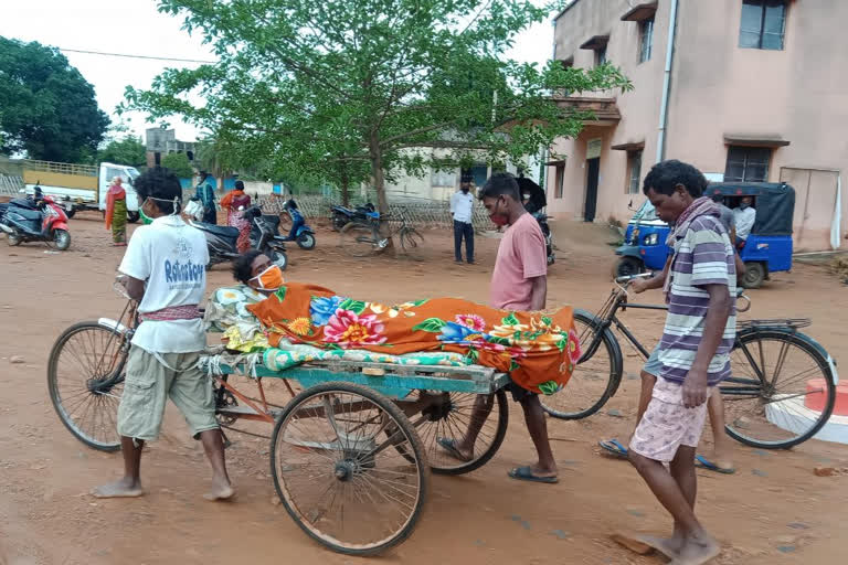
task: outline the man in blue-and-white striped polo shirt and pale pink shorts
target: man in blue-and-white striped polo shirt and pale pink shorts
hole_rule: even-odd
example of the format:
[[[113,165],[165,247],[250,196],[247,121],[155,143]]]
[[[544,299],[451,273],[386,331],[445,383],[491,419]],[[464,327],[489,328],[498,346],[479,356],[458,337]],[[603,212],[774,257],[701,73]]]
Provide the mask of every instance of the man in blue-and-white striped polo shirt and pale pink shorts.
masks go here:
[[[646,541],[681,565],[706,563],[719,553],[695,516],[695,455],[711,387],[730,375],[735,337],[733,246],[703,186],[703,174],[677,160],[654,166],[644,183],[659,217],[675,224],[674,256],[664,286],[668,316],[658,352],[661,369],[629,458],[675,519],[670,539]]]

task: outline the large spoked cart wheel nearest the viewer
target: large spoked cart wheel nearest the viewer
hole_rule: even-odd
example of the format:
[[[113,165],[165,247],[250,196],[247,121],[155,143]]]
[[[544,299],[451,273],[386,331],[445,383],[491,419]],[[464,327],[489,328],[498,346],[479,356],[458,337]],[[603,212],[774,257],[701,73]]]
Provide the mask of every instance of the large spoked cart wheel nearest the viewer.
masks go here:
[[[409,537],[430,480],[424,447],[406,416],[384,396],[349,383],[324,383],[288,403],[274,426],[271,472],[297,525],[348,555],[374,555]]]

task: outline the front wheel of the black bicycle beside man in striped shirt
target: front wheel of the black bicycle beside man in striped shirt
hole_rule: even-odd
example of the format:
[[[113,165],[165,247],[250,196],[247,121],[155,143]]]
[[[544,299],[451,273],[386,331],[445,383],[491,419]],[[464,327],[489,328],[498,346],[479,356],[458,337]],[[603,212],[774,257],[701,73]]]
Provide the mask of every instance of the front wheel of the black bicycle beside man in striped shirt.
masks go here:
[[[550,396],[541,395],[544,412],[560,419],[582,419],[600,411],[622,382],[622,350],[610,330],[597,335],[601,320],[574,309],[574,326],[582,356],[565,387]]]

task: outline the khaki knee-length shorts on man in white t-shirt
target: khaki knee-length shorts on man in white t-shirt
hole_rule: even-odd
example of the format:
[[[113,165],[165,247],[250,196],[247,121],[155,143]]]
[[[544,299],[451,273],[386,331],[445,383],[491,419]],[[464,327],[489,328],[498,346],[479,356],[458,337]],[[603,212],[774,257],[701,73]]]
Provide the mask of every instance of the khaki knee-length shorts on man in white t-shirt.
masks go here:
[[[124,395],[118,406],[118,434],[144,440],[158,438],[169,396],[195,439],[201,431],[218,429],[212,379],[195,366],[200,353],[159,353],[159,356],[168,366],[152,353],[135,345],[130,348]]]

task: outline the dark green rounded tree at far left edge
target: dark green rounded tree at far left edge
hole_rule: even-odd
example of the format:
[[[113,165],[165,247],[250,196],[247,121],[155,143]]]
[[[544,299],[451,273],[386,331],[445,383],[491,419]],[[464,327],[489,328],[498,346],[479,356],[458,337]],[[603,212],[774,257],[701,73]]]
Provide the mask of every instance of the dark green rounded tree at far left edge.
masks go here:
[[[0,38],[0,150],[81,162],[108,125],[94,87],[59,50]]]

